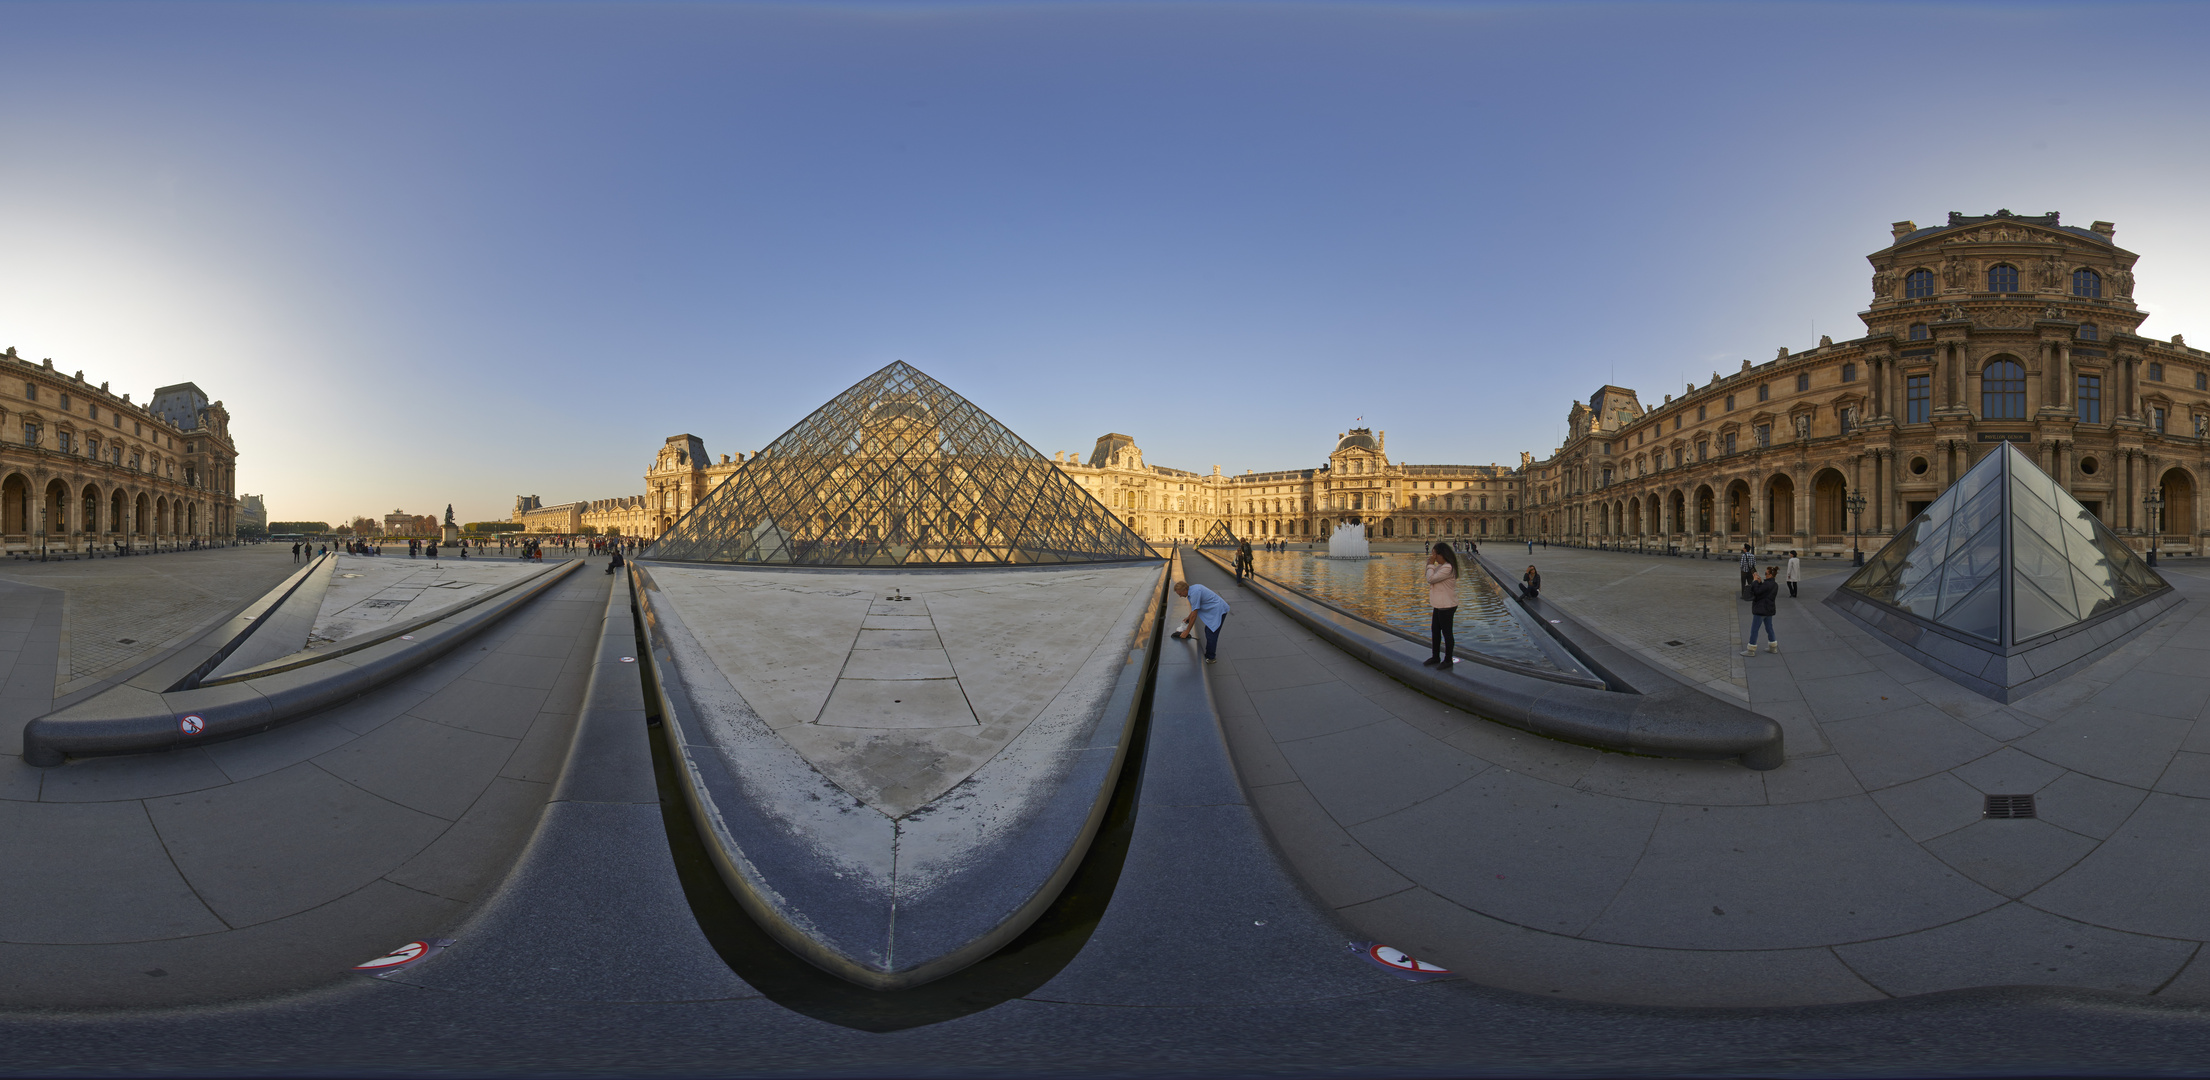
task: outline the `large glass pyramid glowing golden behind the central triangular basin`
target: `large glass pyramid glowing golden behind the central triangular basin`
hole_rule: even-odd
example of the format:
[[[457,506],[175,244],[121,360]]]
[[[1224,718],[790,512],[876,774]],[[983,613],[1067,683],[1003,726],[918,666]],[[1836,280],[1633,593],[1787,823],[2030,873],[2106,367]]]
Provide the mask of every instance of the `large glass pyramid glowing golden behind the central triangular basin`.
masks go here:
[[[1056,464],[904,360],[767,444],[645,554],[765,565],[1158,559]]]

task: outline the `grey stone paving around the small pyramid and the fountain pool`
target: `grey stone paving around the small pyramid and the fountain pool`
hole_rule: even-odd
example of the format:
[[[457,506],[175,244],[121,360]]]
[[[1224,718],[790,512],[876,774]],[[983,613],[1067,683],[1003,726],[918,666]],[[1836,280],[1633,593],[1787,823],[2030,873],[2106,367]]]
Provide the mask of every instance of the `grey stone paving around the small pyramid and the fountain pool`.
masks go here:
[[[1507,550],[1505,550],[1507,552]],[[1498,559],[1505,552],[1496,552]],[[1485,552],[1487,554],[1487,552]],[[1525,550],[1520,550],[1525,554]],[[1730,563],[1538,554],[1545,596],[1613,638],[1693,640],[1711,687],[1748,605]],[[1350,660],[1233,581],[1211,669],[1238,771],[1355,928],[1467,976],[1651,1005],[1810,1005],[1985,985],[2210,1000],[2210,579],[2128,647],[2016,705],[1817,603],[1739,660],[1788,762],[1671,762],[1540,740]],[[1717,596],[1717,599],[1713,599]],[[1730,625],[1728,625],[1730,623]],[[1691,636],[1693,634],[1693,636]],[[1985,795],[2035,819],[1985,819]]]

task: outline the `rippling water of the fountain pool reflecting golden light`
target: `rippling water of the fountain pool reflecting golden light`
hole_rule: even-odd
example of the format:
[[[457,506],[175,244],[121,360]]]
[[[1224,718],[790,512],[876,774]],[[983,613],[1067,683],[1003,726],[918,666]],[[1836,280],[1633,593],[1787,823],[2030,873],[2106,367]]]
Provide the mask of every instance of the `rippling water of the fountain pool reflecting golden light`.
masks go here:
[[[1346,612],[1428,636],[1428,557],[1421,552],[1381,552],[1379,559],[1364,561],[1315,559],[1311,552],[1251,552],[1251,565]],[[1465,561],[1459,574],[1454,632],[1461,652],[1558,669],[1505,607],[1496,581],[1472,561]]]

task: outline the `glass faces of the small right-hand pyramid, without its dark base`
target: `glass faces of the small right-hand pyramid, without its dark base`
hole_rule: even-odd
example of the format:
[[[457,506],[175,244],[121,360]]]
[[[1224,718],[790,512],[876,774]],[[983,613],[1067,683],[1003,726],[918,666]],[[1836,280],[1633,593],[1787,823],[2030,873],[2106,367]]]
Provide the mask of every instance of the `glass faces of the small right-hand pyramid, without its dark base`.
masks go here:
[[[1841,592],[2004,647],[2168,587],[2009,442],[1841,583]]]

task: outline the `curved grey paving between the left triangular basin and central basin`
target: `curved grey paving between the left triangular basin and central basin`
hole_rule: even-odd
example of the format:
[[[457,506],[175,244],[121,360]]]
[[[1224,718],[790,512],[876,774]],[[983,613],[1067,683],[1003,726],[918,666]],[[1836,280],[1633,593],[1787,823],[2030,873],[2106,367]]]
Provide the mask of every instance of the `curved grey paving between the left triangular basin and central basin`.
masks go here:
[[[161,559],[186,557],[84,565]],[[433,689],[177,753],[0,758],[0,1007],[301,989],[451,925],[550,793],[608,583],[575,574],[411,676]],[[526,680],[555,689],[513,685],[535,665],[552,674]]]

